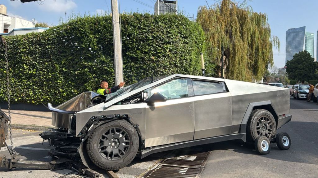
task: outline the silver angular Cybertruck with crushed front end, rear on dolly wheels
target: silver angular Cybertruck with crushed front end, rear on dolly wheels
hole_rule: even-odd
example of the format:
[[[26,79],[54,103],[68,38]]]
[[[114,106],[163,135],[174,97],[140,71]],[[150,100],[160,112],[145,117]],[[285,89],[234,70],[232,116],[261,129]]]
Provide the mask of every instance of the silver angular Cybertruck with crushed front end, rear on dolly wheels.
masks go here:
[[[241,139],[267,154],[291,120],[289,89],[249,82],[171,75],[146,78],[108,95],[84,92],[52,107],[52,125],[43,132],[55,149],[89,168],[116,170],[135,156]],[[97,167],[96,167],[97,166]]]

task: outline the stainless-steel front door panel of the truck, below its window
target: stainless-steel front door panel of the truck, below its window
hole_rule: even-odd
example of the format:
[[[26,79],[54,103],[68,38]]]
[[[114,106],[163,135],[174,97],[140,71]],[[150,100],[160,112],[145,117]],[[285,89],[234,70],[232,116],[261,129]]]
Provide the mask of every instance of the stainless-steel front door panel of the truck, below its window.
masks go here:
[[[193,98],[171,99],[146,108],[145,147],[192,140]]]

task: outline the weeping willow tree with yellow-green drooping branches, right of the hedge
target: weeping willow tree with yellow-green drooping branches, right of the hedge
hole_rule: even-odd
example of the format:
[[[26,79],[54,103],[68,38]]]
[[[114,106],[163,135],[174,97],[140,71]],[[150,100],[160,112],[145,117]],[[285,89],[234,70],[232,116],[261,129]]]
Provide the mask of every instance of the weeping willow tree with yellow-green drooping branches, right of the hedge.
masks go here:
[[[223,0],[209,8],[201,6],[197,22],[206,34],[207,50],[214,62],[220,59],[224,46],[226,78],[259,80],[268,66],[273,66],[273,47],[279,49],[279,39],[271,36],[267,15],[253,12],[246,1]]]

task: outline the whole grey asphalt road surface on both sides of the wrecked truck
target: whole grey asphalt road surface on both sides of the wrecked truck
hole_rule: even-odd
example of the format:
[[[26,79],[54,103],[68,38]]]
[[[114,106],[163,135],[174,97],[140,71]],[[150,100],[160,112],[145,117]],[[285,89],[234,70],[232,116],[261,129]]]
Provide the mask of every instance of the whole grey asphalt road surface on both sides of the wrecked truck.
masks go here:
[[[201,178],[211,177],[317,177],[318,175],[318,105],[306,100],[291,97],[290,113],[292,121],[284,125],[278,132],[287,132],[291,137],[291,148],[280,150],[276,143],[271,144],[268,155],[258,155],[254,146],[239,141],[227,141],[204,145],[212,150]],[[50,161],[47,151],[51,149],[38,136],[40,132],[30,130],[13,130],[14,146],[28,160]],[[0,154],[9,156],[6,149]],[[117,172],[121,178],[138,177],[156,164],[166,153],[148,156],[134,161]],[[63,169],[59,171],[15,169],[9,171],[0,168],[0,178],[51,178],[71,177],[74,171]],[[107,177],[106,174],[104,174]]]

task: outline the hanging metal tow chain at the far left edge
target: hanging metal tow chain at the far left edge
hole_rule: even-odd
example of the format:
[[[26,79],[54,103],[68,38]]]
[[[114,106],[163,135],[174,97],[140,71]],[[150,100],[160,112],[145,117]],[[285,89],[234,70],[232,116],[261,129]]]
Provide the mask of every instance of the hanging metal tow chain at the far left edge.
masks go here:
[[[12,133],[11,133],[11,112],[10,112],[10,78],[9,78],[9,62],[8,62],[8,49],[7,49],[7,42],[5,41],[5,39],[3,38],[2,35],[0,35],[0,41],[3,43],[4,45],[4,58],[5,58],[5,67],[6,67],[6,73],[7,73],[7,91],[8,91],[8,113],[9,113],[9,130],[10,130],[10,142],[11,142],[11,158],[15,158],[15,156],[17,155],[16,151],[14,150],[13,147],[13,141],[12,141]]]

